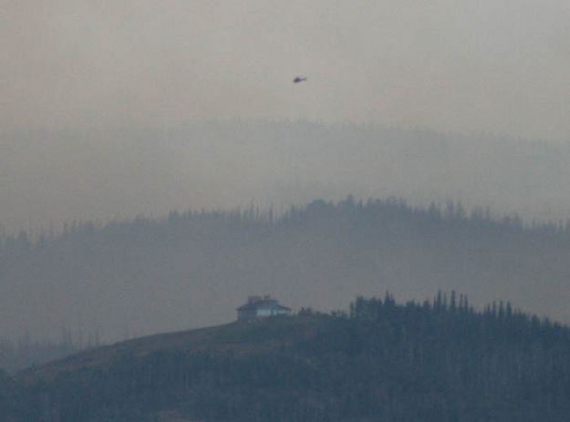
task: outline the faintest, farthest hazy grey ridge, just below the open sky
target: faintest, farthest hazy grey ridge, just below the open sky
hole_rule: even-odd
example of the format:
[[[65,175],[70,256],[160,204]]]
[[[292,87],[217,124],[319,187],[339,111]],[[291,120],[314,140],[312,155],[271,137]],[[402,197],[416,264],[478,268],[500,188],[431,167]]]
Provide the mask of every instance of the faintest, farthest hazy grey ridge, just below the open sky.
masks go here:
[[[570,218],[570,145],[308,121],[19,130],[2,138],[0,226],[58,230],[169,211],[283,211],[320,198],[461,201]]]

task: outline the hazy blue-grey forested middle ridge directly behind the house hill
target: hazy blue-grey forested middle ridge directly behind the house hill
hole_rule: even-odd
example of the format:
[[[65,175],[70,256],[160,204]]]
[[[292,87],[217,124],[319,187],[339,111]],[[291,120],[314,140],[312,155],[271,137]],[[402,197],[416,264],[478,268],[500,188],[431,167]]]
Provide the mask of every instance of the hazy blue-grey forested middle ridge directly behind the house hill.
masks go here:
[[[102,342],[232,321],[249,293],[330,311],[357,294],[421,299],[438,290],[477,306],[508,298],[567,322],[570,230],[458,202],[312,201],[277,213],[171,212],[0,242],[0,338],[62,329]],[[13,340],[15,341],[15,340]]]

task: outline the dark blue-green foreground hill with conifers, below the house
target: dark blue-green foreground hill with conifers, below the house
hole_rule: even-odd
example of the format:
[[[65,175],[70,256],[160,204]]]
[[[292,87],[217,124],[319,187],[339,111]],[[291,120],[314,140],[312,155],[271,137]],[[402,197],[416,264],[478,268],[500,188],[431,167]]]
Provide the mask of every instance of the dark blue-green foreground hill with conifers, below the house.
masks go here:
[[[570,330],[463,295],[157,335],[4,378],[0,416],[83,421],[567,421]],[[188,337],[190,338],[190,337]],[[186,343],[184,343],[186,342]],[[112,352],[112,353],[111,353]],[[105,356],[104,358],[101,356]],[[78,365],[84,362],[83,365]]]

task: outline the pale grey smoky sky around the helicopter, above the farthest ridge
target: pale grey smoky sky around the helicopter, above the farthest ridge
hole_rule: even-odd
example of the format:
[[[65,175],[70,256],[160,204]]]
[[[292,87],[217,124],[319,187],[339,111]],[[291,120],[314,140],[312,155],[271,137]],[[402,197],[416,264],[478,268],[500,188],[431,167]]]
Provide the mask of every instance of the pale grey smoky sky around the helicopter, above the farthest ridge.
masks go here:
[[[2,129],[307,118],[566,140],[569,75],[567,0],[0,0]]]

